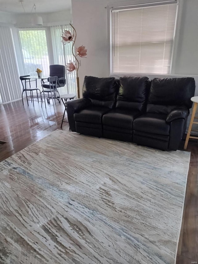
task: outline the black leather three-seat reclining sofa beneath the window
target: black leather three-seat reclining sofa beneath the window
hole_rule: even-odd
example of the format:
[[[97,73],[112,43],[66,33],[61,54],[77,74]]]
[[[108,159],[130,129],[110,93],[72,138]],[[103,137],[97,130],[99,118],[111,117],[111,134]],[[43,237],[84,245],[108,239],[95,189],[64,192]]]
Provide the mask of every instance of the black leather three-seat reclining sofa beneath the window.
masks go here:
[[[66,103],[71,131],[177,150],[186,130],[194,78],[85,76],[83,98]]]

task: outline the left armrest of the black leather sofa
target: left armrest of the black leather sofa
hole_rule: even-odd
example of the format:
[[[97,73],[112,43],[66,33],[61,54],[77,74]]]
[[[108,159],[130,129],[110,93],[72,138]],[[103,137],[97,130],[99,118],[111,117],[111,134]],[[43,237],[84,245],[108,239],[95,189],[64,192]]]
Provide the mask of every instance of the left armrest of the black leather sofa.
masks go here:
[[[92,105],[91,100],[85,99],[85,98],[75,99],[75,100],[68,101],[65,103],[65,107],[67,110],[67,118],[68,118],[69,127],[71,131],[76,132],[74,114],[91,105]]]

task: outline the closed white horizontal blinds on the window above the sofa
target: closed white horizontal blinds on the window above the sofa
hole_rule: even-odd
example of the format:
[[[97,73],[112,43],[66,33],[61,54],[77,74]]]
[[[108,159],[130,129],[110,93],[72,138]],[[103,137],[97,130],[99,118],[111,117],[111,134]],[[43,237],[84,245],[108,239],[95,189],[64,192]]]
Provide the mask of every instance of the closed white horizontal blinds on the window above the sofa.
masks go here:
[[[115,10],[112,72],[170,73],[177,2]]]

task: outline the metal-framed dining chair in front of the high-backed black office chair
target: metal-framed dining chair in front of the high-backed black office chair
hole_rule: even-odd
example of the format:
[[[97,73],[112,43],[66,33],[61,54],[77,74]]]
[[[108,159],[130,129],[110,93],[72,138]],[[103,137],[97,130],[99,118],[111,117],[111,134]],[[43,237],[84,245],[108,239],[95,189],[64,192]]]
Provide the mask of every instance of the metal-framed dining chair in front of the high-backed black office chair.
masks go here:
[[[42,85],[42,92],[43,95],[44,95],[44,102],[45,102],[45,93],[48,93],[48,97],[47,97],[47,102],[48,104],[50,104],[50,99],[52,99],[52,102],[53,102],[53,106],[54,106],[54,102],[56,104],[56,99],[58,100],[58,102],[60,103],[60,94],[58,93],[58,90],[57,90],[57,76],[53,76],[53,77],[48,77],[47,78],[47,81],[49,82],[49,84],[46,84],[45,82],[41,82],[41,85]],[[49,96],[49,93],[51,94],[51,97]],[[53,93],[53,94],[52,94]],[[58,97],[56,95],[56,93],[58,93]],[[54,101],[53,101],[54,99]],[[46,107],[46,103],[45,103],[45,107]]]

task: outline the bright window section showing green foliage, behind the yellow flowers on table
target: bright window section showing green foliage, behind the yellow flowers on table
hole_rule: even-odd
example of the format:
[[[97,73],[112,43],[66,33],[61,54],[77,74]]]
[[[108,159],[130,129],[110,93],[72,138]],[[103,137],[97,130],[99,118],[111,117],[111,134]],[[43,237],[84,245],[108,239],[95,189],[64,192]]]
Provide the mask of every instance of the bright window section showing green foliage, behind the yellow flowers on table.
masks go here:
[[[45,29],[20,29],[19,38],[25,74],[35,75],[37,68],[43,76],[49,76],[49,56]]]

